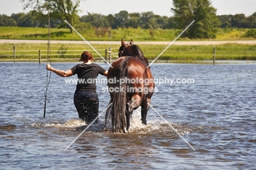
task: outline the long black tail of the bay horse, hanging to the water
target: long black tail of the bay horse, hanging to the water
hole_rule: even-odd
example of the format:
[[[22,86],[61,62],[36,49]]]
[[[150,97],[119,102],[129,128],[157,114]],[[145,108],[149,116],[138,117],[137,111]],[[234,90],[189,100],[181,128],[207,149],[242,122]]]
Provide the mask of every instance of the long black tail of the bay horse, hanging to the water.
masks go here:
[[[128,74],[128,66],[127,62],[123,60],[119,65],[117,69],[117,80],[125,79]],[[119,81],[120,82],[120,81]],[[113,132],[121,132],[121,129],[123,132],[125,132],[126,128],[126,115],[125,115],[125,104],[126,104],[126,83],[119,84],[117,82],[115,84],[114,88],[117,88],[119,92],[113,92],[113,96],[111,97],[109,104],[113,103],[111,107],[107,109],[106,112],[106,126],[108,123],[108,117],[111,116],[112,121],[112,131]]]

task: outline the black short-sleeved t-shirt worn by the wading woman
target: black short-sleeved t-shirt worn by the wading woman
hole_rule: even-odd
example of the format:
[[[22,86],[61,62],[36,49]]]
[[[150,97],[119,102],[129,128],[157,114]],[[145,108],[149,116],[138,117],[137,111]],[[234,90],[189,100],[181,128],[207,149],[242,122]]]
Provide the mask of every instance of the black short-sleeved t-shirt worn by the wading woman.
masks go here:
[[[96,92],[96,78],[106,72],[106,69],[98,66],[95,63],[90,65],[78,64],[71,68],[73,75],[77,74],[77,91]]]

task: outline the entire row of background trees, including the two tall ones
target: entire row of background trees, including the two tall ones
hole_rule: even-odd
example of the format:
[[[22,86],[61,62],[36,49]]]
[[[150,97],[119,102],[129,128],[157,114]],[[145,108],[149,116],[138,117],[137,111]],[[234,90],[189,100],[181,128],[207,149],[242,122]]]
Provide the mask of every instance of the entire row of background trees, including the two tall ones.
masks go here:
[[[123,10],[114,15],[88,13],[79,16],[80,0],[22,0],[25,7],[32,7],[29,13],[0,15],[0,26],[18,27],[48,27],[48,11],[50,27],[110,30],[117,28],[143,28],[149,29],[150,34],[155,29],[184,29],[193,20],[194,24],[182,35],[188,38],[215,38],[217,28],[256,28],[256,12],[250,16],[244,14],[216,15],[216,8],[212,7],[210,0],[173,0],[173,16],[155,15],[152,11],[144,13],[128,13]],[[51,8],[50,8],[51,7]],[[47,11],[46,11],[47,9]]]

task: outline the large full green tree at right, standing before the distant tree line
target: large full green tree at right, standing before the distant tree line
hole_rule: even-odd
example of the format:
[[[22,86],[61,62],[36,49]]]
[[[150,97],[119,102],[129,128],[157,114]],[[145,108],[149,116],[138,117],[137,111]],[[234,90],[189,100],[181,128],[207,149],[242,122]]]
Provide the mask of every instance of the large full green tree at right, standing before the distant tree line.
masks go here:
[[[216,9],[209,0],[173,0],[175,27],[185,29],[193,20],[183,37],[215,38],[217,27],[220,25]]]

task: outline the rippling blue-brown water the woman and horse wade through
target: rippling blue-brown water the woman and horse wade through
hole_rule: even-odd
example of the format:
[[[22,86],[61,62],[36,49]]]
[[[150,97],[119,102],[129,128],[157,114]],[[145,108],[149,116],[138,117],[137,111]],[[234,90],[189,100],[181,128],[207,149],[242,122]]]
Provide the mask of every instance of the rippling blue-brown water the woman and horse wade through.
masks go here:
[[[65,70],[74,65],[53,63]],[[146,126],[136,110],[129,134],[107,131],[103,113],[64,151],[87,127],[73,104],[75,84],[51,74],[43,118],[45,64],[0,66],[1,169],[255,168],[255,64],[152,65],[154,78],[194,79],[194,84],[156,84],[152,107],[195,151],[152,108]],[[109,102],[102,87],[106,84],[97,85],[100,113]]]

